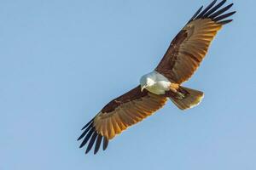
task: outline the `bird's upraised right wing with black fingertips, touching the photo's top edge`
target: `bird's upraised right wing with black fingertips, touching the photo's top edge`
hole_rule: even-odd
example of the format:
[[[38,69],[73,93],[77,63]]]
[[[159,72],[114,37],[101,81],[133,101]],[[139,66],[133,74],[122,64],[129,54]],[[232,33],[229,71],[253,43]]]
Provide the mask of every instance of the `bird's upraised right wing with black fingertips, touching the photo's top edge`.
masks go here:
[[[176,83],[185,82],[193,75],[201,60],[206,56],[217,31],[224,24],[232,21],[226,20],[227,17],[236,13],[234,11],[224,14],[233,3],[221,8],[226,0],[215,5],[216,2],[217,0],[213,1],[203,11],[201,11],[203,8],[201,7],[194,14],[188,24],[183,27],[183,30],[172,40],[155,71]]]

